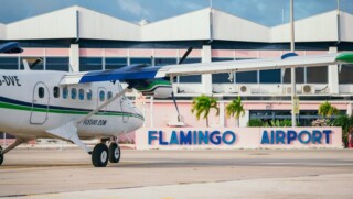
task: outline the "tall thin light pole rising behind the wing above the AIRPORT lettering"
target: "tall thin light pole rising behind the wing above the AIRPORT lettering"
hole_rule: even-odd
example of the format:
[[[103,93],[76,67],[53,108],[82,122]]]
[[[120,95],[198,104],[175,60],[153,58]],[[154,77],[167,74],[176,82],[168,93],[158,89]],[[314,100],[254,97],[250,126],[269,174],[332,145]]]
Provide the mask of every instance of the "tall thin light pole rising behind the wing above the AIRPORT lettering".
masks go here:
[[[290,0],[290,51],[295,53],[295,0]],[[297,126],[296,113],[297,113],[297,89],[296,89],[296,68],[290,69],[291,78],[291,126]]]

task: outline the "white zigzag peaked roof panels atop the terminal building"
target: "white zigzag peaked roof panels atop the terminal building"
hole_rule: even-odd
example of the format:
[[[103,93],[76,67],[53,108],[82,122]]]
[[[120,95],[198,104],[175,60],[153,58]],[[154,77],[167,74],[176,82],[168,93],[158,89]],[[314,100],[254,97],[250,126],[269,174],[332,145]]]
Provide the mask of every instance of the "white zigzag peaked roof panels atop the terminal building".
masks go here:
[[[353,42],[353,15],[327,12],[296,22],[296,42]],[[82,7],[69,7],[18,22],[1,24],[0,40],[90,38],[115,41],[220,40],[282,43],[289,24],[267,27],[215,9],[202,9],[145,25]]]

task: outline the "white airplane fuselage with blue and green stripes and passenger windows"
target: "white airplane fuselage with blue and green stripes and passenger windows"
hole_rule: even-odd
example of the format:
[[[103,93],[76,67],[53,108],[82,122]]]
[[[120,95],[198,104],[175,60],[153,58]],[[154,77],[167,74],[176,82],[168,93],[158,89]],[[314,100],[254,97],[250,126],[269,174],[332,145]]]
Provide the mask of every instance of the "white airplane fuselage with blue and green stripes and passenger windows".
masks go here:
[[[60,86],[64,71],[0,70],[0,132],[25,139],[51,137],[49,130],[78,121],[122,90],[119,82]],[[77,125],[81,139],[117,136],[143,124],[125,96]]]

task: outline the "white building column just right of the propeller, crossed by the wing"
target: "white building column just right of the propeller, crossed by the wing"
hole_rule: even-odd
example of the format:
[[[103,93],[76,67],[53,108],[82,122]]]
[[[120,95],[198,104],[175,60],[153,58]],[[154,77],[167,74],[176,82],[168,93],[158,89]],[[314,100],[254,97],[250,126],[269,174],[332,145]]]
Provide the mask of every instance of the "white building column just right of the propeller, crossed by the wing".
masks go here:
[[[202,63],[212,62],[211,45],[202,46]],[[202,75],[202,93],[212,95],[212,74]]]

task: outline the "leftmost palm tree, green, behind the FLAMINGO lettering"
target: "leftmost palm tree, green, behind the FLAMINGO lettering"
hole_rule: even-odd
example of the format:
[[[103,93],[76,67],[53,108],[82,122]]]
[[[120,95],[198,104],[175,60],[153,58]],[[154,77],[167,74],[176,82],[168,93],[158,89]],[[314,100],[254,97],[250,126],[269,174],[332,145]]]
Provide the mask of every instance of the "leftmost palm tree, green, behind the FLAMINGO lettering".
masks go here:
[[[203,119],[206,119],[206,125],[208,128],[208,114],[211,109],[215,109],[216,115],[220,114],[220,108],[217,104],[217,99],[214,97],[208,97],[205,95],[194,98],[192,101],[192,113],[196,113],[196,119],[200,120],[201,114],[203,113]]]

